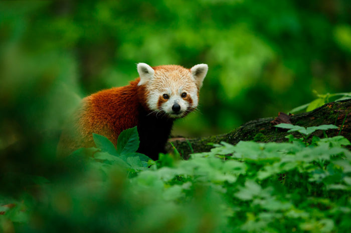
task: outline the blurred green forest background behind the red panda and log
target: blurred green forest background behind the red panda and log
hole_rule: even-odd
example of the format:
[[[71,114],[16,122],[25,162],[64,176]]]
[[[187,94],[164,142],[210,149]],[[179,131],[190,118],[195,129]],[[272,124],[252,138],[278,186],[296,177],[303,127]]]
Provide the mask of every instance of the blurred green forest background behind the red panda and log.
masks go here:
[[[348,0],[2,1],[0,23],[0,149],[15,152],[51,151],[79,99],[126,85],[137,62],[209,65],[200,112],[173,135],[351,89]]]

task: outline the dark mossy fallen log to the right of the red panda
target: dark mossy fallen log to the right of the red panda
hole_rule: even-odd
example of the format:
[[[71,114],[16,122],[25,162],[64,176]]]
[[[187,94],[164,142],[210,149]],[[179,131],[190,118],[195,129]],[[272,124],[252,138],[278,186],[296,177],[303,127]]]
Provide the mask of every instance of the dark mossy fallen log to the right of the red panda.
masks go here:
[[[225,141],[236,144],[241,140],[254,140],[258,142],[283,142],[290,134],[287,129],[274,127],[274,117],[259,118],[235,128],[226,134],[199,137],[199,138],[171,138],[170,141],[180,152],[183,158],[189,158],[189,154],[209,151],[213,146],[211,143]],[[351,140],[351,99],[326,103],[313,111],[290,115],[290,121],[294,125],[303,127],[317,126],[321,124],[334,124],[338,129],[326,131],[328,136],[342,135]],[[296,137],[301,137],[298,132],[293,133]],[[323,137],[323,132],[317,130],[312,135]],[[309,138],[312,136],[310,135]],[[210,143],[210,144],[209,144]],[[172,146],[167,144],[166,150],[173,151]]]

